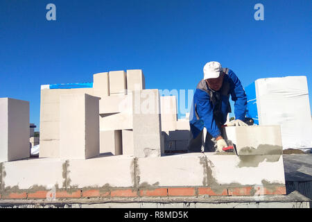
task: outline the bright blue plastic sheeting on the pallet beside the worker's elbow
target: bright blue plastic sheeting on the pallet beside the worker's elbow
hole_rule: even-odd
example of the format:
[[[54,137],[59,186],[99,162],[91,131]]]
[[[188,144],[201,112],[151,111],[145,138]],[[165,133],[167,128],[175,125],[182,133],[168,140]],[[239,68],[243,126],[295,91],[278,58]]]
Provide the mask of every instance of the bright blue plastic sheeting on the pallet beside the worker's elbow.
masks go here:
[[[254,120],[254,124],[259,125],[255,84],[252,83],[252,84],[248,85],[247,87],[245,87],[245,93],[247,95],[246,117],[252,118]]]

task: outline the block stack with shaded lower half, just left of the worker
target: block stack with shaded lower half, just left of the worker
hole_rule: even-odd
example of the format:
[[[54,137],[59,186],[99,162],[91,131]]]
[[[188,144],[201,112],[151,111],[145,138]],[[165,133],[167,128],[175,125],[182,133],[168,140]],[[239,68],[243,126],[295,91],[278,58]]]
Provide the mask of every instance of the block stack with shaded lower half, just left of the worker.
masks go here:
[[[184,119],[177,119],[177,102],[175,96],[162,96],[162,139],[164,150],[187,151],[189,141],[189,113]]]

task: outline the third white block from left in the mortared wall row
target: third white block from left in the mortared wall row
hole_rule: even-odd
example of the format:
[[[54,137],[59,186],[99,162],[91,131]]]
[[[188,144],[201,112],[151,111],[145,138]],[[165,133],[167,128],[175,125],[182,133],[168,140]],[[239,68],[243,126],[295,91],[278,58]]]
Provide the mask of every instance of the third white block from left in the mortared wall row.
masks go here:
[[[202,153],[138,158],[140,185],[203,186],[207,174],[202,158],[205,158]]]

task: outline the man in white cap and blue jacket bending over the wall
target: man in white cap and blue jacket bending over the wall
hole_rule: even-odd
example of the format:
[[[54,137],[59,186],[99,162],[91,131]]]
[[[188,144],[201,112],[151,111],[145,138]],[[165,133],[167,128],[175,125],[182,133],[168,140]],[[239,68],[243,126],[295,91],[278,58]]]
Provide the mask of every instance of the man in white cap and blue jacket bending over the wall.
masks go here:
[[[204,78],[198,83],[193,96],[189,152],[223,152],[223,148],[227,147],[221,126],[231,112],[229,95],[234,101],[235,120],[227,123],[227,126],[247,126],[243,122],[247,98],[241,81],[231,69],[222,68],[219,62],[207,62]]]

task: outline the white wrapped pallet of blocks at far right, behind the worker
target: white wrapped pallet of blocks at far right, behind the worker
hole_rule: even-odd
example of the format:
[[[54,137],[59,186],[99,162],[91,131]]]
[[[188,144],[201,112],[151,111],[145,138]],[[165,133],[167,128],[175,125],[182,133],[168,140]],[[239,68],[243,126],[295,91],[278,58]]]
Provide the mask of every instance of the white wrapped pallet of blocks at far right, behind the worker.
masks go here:
[[[283,149],[312,148],[312,121],[306,76],[255,81],[259,126],[281,126]]]

